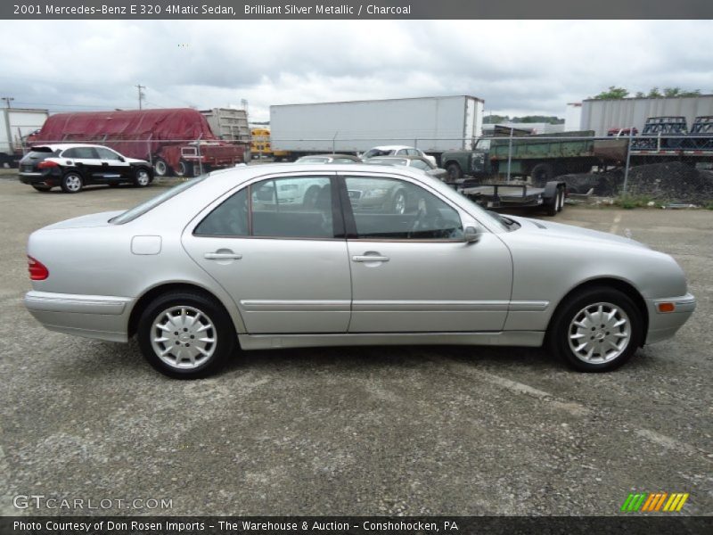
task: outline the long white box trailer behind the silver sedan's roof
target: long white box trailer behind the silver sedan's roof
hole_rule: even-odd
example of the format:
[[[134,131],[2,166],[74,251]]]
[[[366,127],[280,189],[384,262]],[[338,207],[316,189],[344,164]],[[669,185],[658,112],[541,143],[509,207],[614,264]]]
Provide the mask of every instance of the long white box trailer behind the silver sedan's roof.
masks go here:
[[[270,141],[274,151],[292,156],[389,144],[430,154],[470,149],[483,126],[483,102],[460,95],[274,105]]]

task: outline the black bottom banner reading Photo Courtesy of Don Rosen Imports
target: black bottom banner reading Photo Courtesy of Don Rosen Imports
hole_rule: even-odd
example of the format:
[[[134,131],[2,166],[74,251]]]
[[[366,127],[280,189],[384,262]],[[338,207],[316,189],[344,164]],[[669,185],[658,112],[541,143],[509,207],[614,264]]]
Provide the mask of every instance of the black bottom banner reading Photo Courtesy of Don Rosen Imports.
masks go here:
[[[622,516],[5,516],[3,535],[702,535],[713,517],[671,514]]]

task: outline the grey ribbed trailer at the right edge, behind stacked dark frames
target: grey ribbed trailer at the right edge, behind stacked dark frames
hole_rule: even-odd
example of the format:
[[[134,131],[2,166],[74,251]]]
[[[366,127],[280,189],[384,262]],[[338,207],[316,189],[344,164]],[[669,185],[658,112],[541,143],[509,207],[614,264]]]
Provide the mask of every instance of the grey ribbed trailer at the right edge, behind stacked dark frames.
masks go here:
[[[582,130],[606,136],[610,129],[634,127],[642,132],[650,117],[684,117],[689,126],[696,117],[713,115],[713,95],[660,98],[588,99],[582,103]]]

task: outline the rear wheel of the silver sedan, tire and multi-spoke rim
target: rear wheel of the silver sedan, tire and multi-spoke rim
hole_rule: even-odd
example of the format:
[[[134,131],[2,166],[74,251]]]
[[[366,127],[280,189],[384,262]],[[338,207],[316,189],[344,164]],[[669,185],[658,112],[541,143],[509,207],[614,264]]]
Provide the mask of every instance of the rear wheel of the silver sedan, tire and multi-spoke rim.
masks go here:
[[[143,310],[138,343],[162,374],[196,379],[216,372],[235,347],[225,310],[199,293],[166,293]]]

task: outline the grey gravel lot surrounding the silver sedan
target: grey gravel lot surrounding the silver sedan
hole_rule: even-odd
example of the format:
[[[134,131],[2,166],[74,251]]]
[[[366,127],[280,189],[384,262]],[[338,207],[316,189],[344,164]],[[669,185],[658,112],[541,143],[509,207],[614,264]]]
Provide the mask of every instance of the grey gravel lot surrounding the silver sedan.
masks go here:
[[[179,382],[134,343],[45,331],[21,302],[31,231],[158,191],[0,177],[0,514],[70,513],[18,511],[18,494],[173,505],[111,514],[618,514],[633,491],[690,492],[684,514],[713,514],[713,212],[558,216],[672,254],[699,300],[674,340],[615,373],[414,347],[251,352]]]

